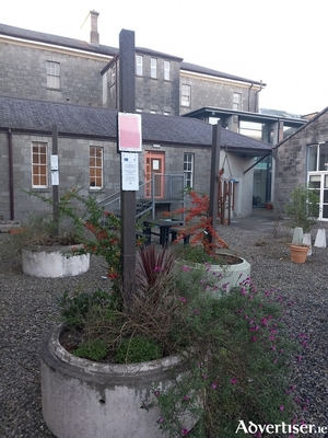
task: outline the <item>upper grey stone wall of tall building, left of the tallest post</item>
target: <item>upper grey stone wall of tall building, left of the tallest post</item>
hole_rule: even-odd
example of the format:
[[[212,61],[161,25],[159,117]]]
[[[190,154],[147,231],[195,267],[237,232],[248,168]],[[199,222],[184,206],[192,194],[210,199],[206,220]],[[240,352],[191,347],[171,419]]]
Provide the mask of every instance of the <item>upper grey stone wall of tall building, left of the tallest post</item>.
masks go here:
[[[47,89],[46,61],[60,64],[60,89]],[[0,43],[0,94],[102,106],[101,69],[107,60],[60,49]]]

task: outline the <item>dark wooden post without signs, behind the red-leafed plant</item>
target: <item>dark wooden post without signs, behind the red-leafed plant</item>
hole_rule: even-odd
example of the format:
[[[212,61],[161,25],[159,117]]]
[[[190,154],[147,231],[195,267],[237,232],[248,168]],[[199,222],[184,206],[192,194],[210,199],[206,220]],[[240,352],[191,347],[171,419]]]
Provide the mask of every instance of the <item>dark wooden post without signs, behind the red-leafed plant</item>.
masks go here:
[[[218,194],[219,194],[219,160],[220,160],[220,147],[221,147],[221,126],[213,126],[212,134],[212,155],[211,155],[211,177],[210,177],[210,208],[209,215],[212,223],[212,228],[216,229],[218,218]],[[209,241],[212,242],[213,237],[209,233]]]

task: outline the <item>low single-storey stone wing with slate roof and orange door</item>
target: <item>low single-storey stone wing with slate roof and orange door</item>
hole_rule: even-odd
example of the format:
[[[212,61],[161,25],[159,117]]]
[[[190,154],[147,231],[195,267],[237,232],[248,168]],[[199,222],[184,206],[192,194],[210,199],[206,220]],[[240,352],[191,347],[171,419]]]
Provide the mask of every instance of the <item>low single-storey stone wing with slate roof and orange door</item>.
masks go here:
[[[101,200],[120,191],[116,110],[0,96],[0,215],[4,220],[20,220],[44,208],[24,189],[51,195],[54,125],[59,132],[59,194],[77,185]],[[145,113],[141,118],[139,196],[154,196],[167,210],[174,198],[169,191],[180,194],[188,185],[209,193],[213,127],[187,117]],[[221,148],[234,176],[233,214],[248,216],[254,157],[271,153],[271,146],[222,129]],[[153,177],[156,184],[150,186]]]

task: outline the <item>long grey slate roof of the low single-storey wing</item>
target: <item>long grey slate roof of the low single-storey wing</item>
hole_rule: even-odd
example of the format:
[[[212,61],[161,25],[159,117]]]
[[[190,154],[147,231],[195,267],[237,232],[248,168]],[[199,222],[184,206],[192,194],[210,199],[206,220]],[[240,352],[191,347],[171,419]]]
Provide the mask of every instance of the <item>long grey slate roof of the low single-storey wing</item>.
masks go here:
[[[59,136],[116,139],[117,111],[65,103],[0,96],[0,130]],[[148,143],[199,146],[212,145],[212,125],[196,118],[142,114],[142,139]],[[221,147],[248,153],[269,153],[271,146],[222,129]]]

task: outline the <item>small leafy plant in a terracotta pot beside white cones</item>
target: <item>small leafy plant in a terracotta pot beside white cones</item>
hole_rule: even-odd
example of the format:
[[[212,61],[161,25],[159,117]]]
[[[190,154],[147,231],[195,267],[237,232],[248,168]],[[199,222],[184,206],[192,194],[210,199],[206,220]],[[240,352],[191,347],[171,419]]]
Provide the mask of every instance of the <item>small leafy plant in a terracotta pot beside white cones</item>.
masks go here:
[[[316,189],[296,186],[291,193],[291,199],[284,206],[284,211],[294,228],[293,242],[290,245],[291,260],[305,263],[311,255],[311,229],[319,217],[319,195]]]

